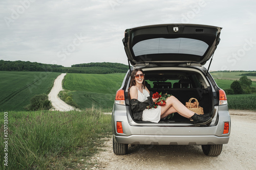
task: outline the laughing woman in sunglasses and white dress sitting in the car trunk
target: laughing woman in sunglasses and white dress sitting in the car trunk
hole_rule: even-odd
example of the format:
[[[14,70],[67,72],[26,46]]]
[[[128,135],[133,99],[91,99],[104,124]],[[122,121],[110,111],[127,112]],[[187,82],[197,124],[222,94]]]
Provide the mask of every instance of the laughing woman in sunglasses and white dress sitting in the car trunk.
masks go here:
[[[144,73],[142,69],[134,69],[131,74],[131,83],[129,91],[129,99],[133,116],[135,120],[150,121],[158,123],[161,118],[164,118],[172,113],[193,119],[194,124],[204,125],[211,122],[210,116],[199,115],[191,110],[188,110],[175,96],[171,95],[166,99],[165,106],[147,109],[147,106],[153,104],[159,99],[153,99],[150,96],[150,91],[145,86]]]

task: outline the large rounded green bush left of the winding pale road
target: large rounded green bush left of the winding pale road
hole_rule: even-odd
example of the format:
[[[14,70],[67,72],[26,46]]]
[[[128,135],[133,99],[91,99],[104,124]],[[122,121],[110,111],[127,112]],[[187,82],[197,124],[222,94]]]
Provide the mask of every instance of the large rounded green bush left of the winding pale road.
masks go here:
[[[26,107],[28,110],[49,110],[52,107],[51,101],[48,100],[47,94],[37,94],[30,100],[30,104]]]

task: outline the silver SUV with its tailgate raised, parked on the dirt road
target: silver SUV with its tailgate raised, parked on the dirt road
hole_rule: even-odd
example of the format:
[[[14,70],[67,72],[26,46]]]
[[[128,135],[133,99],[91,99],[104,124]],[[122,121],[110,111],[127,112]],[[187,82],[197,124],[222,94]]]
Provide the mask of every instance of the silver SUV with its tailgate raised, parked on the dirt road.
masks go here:
[[[127,154],[128,144],[196,144],[202,145],[207,156],[221,154],[230,135],[227,98],[203,66],[220,42],[221,29],[168,24],[125,30],[122,41],[129,66],[131,63],[133,67],[116,93],[112,111],[115,154]],[[136,121],[127,94],[130,73],[135,68],[144,71],[146,86],[152,92],[172,94],[184,105],[190,98],[196,98],[204,113],[213,117],[211,124],[198,127],[178,113],[157,124]]]

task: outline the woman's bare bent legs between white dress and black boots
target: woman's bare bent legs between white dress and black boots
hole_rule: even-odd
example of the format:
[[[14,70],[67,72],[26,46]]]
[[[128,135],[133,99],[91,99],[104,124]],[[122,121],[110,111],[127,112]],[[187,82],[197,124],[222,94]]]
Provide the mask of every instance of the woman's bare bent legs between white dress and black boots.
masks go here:
[[[161,118],[171,113],[178,112],[180,115],[189,118],[195,113],[188,110],[175,96],[170,96],[166,99],[166,105],[161,108]]]

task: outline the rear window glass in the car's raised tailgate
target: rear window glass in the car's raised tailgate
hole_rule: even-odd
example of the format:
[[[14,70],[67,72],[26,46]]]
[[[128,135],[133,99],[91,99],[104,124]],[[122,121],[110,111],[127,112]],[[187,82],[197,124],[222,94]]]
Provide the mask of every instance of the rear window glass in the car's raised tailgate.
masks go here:
[[[208,48],[204,41],[190,38],[153,38],[133,46],[135,56],[149,54],[189,54],[203,56]]]

